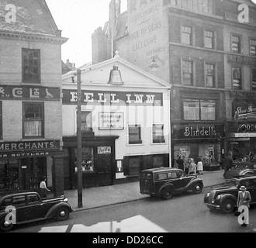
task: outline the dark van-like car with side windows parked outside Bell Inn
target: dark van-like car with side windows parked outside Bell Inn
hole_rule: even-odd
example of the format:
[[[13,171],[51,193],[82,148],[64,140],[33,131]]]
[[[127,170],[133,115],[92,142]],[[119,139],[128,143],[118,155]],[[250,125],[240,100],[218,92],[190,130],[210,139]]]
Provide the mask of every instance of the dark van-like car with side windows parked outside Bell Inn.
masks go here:
[[[140,194],[170,199],[185,191],[195,194],[202,192],[202,179],[196,175],[186,175],[185,171],[175,168],[154,168],[141,171]]]

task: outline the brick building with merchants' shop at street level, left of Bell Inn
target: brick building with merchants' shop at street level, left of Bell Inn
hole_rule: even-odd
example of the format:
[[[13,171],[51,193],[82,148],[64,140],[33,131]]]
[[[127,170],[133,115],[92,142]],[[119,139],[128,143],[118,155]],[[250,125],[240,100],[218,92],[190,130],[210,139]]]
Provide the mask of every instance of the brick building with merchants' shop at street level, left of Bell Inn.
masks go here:
[[[0,192],[64,193],[61,37],[43,0],[0,1]]]

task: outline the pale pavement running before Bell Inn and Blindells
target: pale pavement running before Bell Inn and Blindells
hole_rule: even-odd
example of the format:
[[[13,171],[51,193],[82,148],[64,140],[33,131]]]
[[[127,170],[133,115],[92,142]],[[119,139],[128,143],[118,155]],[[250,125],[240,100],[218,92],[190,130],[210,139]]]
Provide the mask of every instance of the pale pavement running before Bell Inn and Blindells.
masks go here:
[[[218,184],[225,183],[223,172],[223,169],[220,171],[203,171],[203,174],[198,177],[202,178],[204,188],[214,187]],[[140,194],[139,181],[97,188],[84,188],[82,190],[81,208],[78,208],[78,190],[64,191],[64,196],[68,199],[74,212],[125,202],[134,202],[149,197],[148,195]]]

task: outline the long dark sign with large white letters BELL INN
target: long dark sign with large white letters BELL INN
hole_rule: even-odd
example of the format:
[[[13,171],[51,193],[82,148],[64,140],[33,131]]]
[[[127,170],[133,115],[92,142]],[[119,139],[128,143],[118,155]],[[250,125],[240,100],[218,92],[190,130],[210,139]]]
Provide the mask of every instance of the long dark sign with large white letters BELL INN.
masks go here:
[[[63,104],[78,104],[76,90],[63,90]],[[161,93],[146,92],[109,92],[109,91],[81,91],[82,105],[139,105],[162,106],[163,95]]]

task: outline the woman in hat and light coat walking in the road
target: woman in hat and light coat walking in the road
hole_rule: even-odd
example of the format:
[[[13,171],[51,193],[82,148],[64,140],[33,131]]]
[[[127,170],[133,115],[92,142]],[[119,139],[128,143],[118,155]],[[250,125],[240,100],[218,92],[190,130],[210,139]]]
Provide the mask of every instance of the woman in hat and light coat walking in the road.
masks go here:
[[[238,223],[244,227],[249,224],[249,202],[251,202],[251,194],[246,189],[245,186],[241,186],[237,196],[237,211],[241,212],[238,216]]]

